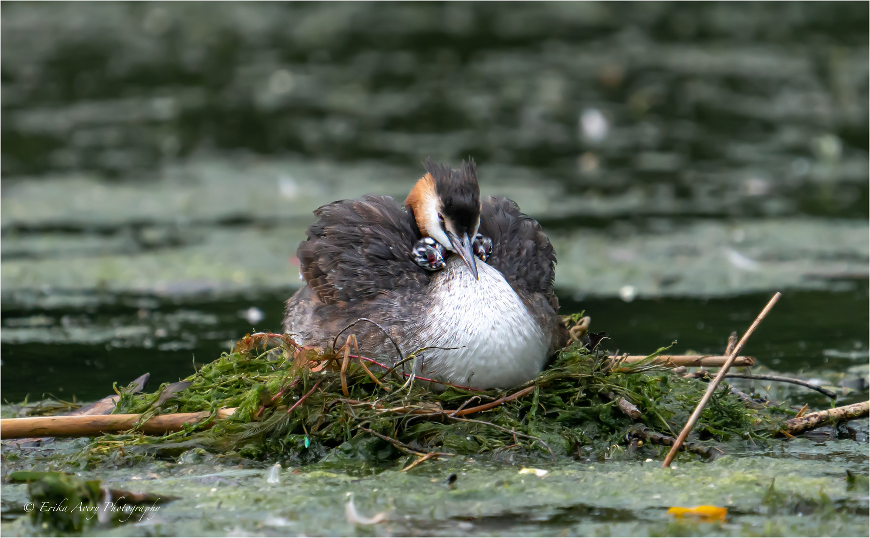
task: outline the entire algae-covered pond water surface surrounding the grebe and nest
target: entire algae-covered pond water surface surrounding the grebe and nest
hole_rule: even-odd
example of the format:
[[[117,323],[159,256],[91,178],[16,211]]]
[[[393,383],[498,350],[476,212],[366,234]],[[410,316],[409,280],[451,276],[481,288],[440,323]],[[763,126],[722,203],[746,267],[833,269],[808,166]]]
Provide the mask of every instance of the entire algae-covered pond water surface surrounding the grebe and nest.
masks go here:
[[[0,10],[6,402],[93,401],[145,372],[153,390],[278,329],[312,209],[404,199],[426,156],[469,155],[485,194],[544,225],[562,313],[585,310],[611,351],[719,354],[780,290],[755,370],[868,398],[864,4]],[[9,473],[57,469],[179,497],[97,535],[867,535],[867,429],[730,439],[669,470],[654,446],[405,473],[334,451],[272,483],[274,460],[78,468],[62,462],[84,440],[4,446],[2,534],[43,532]],[[351,498],[385,521],[351,523]],[[726,519],[667,514],[699,504]]]

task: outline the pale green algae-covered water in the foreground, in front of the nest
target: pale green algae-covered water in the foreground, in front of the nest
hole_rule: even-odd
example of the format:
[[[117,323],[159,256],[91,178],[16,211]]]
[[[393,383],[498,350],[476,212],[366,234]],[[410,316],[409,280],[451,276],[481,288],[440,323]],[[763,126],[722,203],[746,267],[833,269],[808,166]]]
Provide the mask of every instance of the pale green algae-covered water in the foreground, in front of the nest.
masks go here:
[[[184,455],[179,462],[84,472],[111,488],[181,499],[96,535],[864,535],[867,531],[867,427],[853,439],[825,437],[730,448],[714,462],[678,458],[662,469],[656,451],[607,461],[551,461],[487,455],[430,462],[361,464],[339,456],[302,468]],[[75,443],[75,442],[71,442]],[[54,449],[70,450],[70,442]],[[42,451],[23,461],[47,468]],[[9,463],[6,463],[9,466]],[[533,472],[528,472],[528,471]],[[537,472],[534,472],[534,471]],[[450,483],[450,475],[456,475]],[[273,481],[274,482],[274,481]],[[29,535],[26,485],[3,486],[3,534]],[[348,521],[385,512],[376,526]],[[680,521],[673,506],[728,509],[725,521]]]

